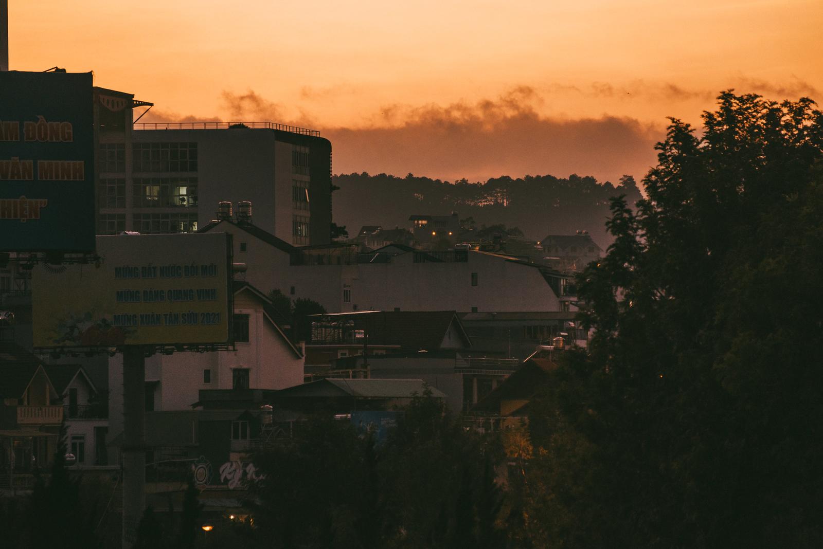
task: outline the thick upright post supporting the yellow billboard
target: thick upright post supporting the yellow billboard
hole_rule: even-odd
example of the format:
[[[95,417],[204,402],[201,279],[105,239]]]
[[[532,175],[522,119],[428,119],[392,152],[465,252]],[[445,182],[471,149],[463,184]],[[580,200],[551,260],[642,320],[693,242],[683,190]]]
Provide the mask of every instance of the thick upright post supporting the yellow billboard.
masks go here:
[[[123,347],[123,547],[137,541],[146,509],[146,349]]]

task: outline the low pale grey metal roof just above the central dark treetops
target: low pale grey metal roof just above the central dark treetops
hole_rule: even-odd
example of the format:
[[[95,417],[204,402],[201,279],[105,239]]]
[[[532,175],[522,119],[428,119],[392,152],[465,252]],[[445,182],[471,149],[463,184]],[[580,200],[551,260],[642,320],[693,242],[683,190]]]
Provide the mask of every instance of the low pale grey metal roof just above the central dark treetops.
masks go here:
[[[415,394],[422,395],[426,389],[423,380],[350,380],[323,379],[295,385],[277,391],[275,398],[291,397],[343,397],[356,399],[409,399]],[[443,391],[429,387],[431,395],[446,398]]]

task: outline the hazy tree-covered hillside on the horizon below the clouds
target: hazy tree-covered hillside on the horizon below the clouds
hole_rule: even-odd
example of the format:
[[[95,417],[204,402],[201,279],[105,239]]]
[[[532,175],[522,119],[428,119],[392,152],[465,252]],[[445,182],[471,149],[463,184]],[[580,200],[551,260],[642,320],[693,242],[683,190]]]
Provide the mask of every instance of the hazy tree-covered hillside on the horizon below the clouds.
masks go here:
[[[615,185],[578,175],[505,176],[481,183],[363,172],[336,175],[332,182],[340,187],[333,198],[335,223],[352,234],[366,224],[408,228],[410,215],[456,211],[460,219],[473,218],[478,227],[518,227],[532,240],[586,229],[603,248],[611,242],[605,228],[611,197],[625,195],[630,204],[642,198],[631,176]]]

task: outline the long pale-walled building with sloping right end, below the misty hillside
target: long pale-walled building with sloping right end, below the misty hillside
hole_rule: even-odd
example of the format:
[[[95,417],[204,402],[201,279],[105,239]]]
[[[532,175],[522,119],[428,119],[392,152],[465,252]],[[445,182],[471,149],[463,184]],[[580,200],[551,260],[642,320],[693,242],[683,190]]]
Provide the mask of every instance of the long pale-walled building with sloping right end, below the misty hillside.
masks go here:
[[[279,288],[328,312],[574,311],[567,274],[512,256],[477,250],[420,251],[388,245],[295,247],[256,224],[218,220],[201,229],[234,235],[235,261],[264,292]]]

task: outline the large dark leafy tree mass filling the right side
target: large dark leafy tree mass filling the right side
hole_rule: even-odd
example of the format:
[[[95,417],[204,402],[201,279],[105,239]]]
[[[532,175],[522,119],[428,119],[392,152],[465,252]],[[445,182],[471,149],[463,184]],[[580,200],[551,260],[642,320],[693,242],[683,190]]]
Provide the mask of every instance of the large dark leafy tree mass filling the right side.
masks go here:
[[[821,547],[823,115],[727,92],[658,151],[532,408],[532,542]]]

